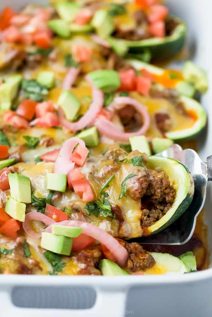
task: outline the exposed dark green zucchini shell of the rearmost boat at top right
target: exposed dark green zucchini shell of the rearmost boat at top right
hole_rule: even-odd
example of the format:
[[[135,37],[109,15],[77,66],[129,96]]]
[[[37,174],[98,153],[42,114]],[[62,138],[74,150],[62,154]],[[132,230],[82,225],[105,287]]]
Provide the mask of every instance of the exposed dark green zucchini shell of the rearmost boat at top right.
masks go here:
[[[175,27],[173,33],[165,38],[154,37],[147,40],[127,41],[129,53],[142,53],[144,49],[151,52],[153,60],[169,59],[180,53],[186,40],[187,28],[185,23],[178,17],[173,17],[179,24]]]

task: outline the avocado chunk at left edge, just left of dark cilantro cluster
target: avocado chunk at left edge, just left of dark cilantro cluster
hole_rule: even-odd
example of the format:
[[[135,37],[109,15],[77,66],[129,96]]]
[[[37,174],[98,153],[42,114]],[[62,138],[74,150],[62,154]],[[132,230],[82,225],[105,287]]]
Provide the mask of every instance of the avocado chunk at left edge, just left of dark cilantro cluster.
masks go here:
[[[12,75],[0,86],[1,109],[10,109],[12,100],[16,97],[22,75]]]

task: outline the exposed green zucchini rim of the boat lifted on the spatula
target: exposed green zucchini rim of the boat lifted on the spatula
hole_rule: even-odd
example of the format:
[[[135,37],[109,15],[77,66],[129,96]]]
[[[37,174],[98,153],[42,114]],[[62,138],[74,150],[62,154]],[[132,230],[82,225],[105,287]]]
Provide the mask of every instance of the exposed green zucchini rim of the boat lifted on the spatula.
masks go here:
[[[189,207],[194,196],[194,181],[187,167],[182,163],[162,156],[149,157],[147,168],[161,169],[168,176],[176,190],[176,198],[168,212],[152,226],[147,228],[144,236],[158,233],[177,220]]]

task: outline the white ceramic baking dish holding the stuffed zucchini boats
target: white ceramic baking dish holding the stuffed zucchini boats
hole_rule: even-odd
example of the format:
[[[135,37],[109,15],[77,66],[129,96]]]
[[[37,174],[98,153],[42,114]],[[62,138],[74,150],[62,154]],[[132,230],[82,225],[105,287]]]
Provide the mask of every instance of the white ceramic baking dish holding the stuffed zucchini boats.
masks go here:
[[[0,1],[0,10],[5,5],[18,8],[33,0]],[[44,3],[35,0],[35,3]],[[171,12],[181,16],[189,29],[191,58],[208,70],[210,87],[212,86],[212,2],[209,0],[167,0]],[[209,116],[208,131],[199,139],[199,153],[203,160],[212,154],[212,100],[211,89],[202,99]],[[209,228],[209,248],[212,247],[212,188],[208,186],[205,222]],[[87,310],[57,310],[17,308],[10,300],[14,286],[89,286],[96,290],[97,300],[93,308]],[[133,301],[125,307],[127,290],[136,287]],[[212,314],[212,268],[193,274],[184,275],[149,275],[149,276],[31,276],[0,275],[0,316],[34,317],[34,316],[163,316],[175,317],[204,316]],[[26,299],[27,300],[27,299]],[[127,310],[128,309],[128,310]]]

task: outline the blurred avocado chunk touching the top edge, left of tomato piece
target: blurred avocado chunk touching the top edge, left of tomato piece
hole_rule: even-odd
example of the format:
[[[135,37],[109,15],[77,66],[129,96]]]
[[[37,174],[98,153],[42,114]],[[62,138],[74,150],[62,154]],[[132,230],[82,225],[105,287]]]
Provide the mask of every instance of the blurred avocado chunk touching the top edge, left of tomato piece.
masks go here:
[[[70,23],[73,21],[77,12],[81,9],[81,6],[76,2],[61,1],[56,3],[56,10],[61,19]]]

